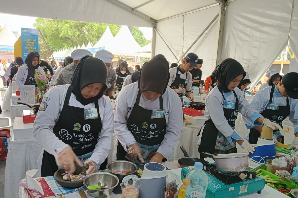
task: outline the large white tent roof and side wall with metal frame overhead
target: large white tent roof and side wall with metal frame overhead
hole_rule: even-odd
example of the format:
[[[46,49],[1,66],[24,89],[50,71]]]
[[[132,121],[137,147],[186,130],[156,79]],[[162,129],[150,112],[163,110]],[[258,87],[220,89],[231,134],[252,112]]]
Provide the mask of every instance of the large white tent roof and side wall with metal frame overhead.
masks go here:
[[[13,0],[3,1],[0,12],[152,27],[152,56],[181,62],[194,52],[204,60],[203,78],[222,58],[235,58],[251,87],[286,45],[298,57],[298,0]]]

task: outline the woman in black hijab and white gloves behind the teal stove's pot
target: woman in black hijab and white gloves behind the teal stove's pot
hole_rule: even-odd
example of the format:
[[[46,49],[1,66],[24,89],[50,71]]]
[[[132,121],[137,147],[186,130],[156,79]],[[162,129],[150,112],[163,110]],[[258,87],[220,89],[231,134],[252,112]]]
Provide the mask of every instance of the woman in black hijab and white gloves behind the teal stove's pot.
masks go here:
[[[253,153],[255,145],[242,140],[234,131],[238,111],[253,122],[263,123],[265,119],[248,104],[240,90],[235,89],[245,75],[242,65],[232,58],[224,60],[218,67],[215,74],[218,85],[206,97],[204,116],[209,120],[198,134],[201,159],[205,158],[202,152],[236,153],[236,142],[247,153]]]

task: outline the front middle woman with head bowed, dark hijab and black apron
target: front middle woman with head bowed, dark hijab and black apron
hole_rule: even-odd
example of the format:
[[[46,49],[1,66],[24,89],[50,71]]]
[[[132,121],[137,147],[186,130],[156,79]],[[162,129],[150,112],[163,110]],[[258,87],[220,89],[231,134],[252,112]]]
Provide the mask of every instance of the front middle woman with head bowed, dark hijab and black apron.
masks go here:
[[[163,55],[155,56],[142,66],[138,82],[119,93],[114,111],[117,160],[161,163],[173,153],[182,108],[178,95],[167,87],[168,68]]]

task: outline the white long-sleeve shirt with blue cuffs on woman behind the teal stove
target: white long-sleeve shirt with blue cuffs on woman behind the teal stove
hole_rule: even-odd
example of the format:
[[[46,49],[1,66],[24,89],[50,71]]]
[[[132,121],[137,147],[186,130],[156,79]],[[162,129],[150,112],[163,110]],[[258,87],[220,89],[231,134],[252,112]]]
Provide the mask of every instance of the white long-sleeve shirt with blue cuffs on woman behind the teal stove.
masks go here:
[[[249,105],[249,103],[243,97],[240,89],[235,88],[234,91],[238,97],[238,111],[242,114],[242,117],[250,119],[252,123],[256,122],[258,118],[263,117],[261,114],[257,112],[257,110],[255,110],[251,105]],[[230,91],[228,93],[224,93],[223,91],[223,94],[226,101],[236,101],[233,91]],[[206,118],[211,118],[216,129],[219,132],[221,132],[225,137],[232,137],[235,140],[239,140],[240,136],[234,131],[234,129],[231,128],[231,126],[229,126],[229,123],[224,116],[224,98],[221,95],[221,92],[219,91],[217,86],[213,88],[211,92],[207,95],[205,103],[206,107],[204,116]],[[202,133],[200,133],[198,142],[199,145],[201,144],[201,137]]]

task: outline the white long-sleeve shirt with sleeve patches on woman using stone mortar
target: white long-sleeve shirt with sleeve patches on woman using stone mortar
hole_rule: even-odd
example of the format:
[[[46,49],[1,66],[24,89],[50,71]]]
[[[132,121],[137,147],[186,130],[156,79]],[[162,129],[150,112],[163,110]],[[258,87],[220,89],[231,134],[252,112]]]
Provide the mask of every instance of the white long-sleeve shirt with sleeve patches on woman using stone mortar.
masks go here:
[[[46,92],[43,101],[45,101],[48,106],[44,111],[38,111],[33,124],[33,136],[38,140],[42,148],[52,155],[55,155],[55,150],[62,151],[68,146],[59,140],[53,132],[53,128],[60,116],[59,112],[62,111],[68,87],[69,84],[59,85]],[[84,106],[76,100],[76,96],[73,93],[70,96],[69,105],[84,109],[94,108],[95,106],[94,103]],[[111,149],[114,132],[114,115],[111,102],[106,96],[102,96],[98,100],[98,107],[102,128],[101,131],[98,132],[97,144],[95,145],[90,159],[97,164],[97,167],[100,167]],[[75,122],[76,121],[74,121],[74,124]],[[41,152],[39,161],[41,161],[43,153],[44,151]]]

